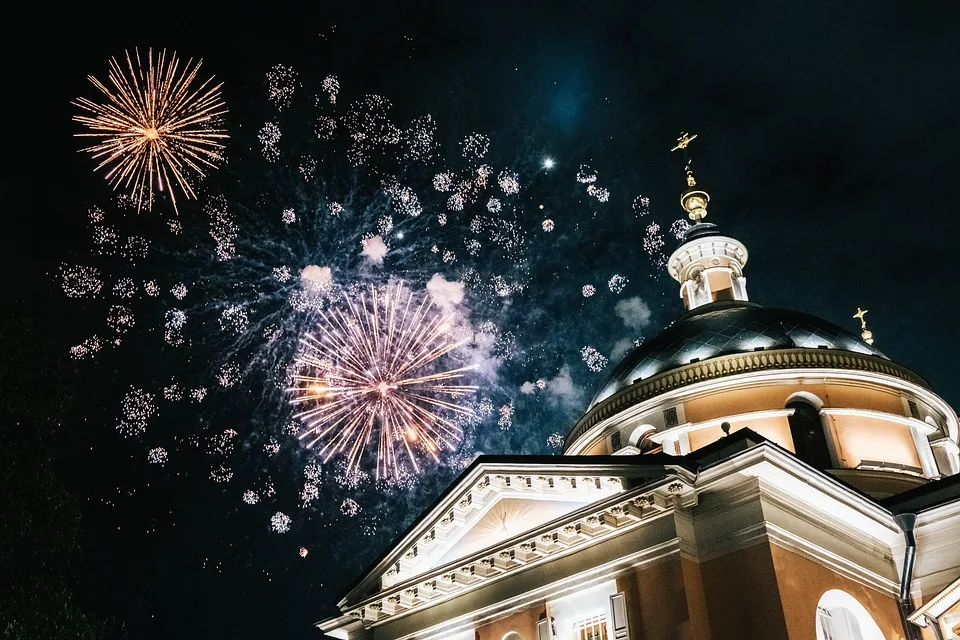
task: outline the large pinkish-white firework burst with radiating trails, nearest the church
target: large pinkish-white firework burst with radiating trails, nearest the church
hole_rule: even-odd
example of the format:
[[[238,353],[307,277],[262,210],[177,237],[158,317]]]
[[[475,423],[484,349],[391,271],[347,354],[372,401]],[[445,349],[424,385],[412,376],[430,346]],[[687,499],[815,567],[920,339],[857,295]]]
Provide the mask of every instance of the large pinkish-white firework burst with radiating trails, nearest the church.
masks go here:
[[[297,360],[310,373],[295,375],[290,389],[295,405],[310,405],[296,416],[305,424],[300,439],[322,443],[324,461],[345,455],[349,472],[376,432],[378,479],[401,474],[398,452],[419,471],[415,448],[434,459],[441,447],[452,450],[462,432],[445,414],[472,414],[457,400],[477,390],[454,384],[473,367],[437,369],[468,341],[450,338],[452,314],[437,313],[430,298],[417,303],[397,284],[321,315],[319,337],[302,340]]]

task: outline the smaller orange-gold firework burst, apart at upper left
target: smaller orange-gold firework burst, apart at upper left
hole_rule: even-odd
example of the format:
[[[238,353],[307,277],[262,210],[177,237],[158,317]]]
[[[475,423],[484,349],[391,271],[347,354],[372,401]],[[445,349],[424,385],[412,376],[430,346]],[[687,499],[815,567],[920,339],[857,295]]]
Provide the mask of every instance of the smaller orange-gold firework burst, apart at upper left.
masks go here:
[[[151,49],[144,67],[137,50],[132,56],[126,52],[126,65],[110,59],[107,84],[89,76],[102,102],[73,102],[83,111],[74,121],[89,130],[76,135],[98,139],[82,150],[99,161],[96,169],[106,169],[110,186],[126,191],[138,210],[152,208],[155,187],[169,192],[177,210],[173,187],[196,198],[190,180],[203,178],[221,159],[221,141],[228,137],[219,128],[227,112],[222,84],[210,78],[196,86],[201,64],[191,59],[181,67],[176,53],[166,51],[154,59]]]

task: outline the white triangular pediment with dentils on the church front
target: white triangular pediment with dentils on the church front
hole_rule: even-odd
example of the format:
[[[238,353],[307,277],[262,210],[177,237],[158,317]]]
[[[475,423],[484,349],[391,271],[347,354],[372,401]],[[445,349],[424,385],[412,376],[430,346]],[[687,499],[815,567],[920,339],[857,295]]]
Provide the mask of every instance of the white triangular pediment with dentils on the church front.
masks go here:
[[[648,465],[582,457],[481,458],[346,595],[341,606],[502,546],[624,491]],[[530,460],[527,462],[526,460]],[[594,462],[596,461],[596,462]]]

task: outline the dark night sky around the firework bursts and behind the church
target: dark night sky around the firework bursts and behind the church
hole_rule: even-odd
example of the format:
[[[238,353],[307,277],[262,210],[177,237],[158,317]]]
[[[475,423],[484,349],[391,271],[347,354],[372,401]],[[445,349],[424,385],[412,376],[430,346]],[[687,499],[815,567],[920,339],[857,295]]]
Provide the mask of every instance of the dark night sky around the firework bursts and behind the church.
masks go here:
[[[27,34],[43,25],[43,35],[5,56],[0,519],[15,544],[0,541],[8,547],[0,555],[0,598],[16,606],[0,602],[0,626],[15,615],[53,624],[59,614],[51,609],[69,602],[71,624],[83,618],[87,629],[106,620],[130,638],[319,637],[312,623],[335,612],[344,587],[476,453],[558,452],[549,437],[569,430],[612,368],[591,371],[583,347],[611,358],[624,340],[649,338],[682,312],[676,283],[644,240],[655,222],[666,241],[660,253],[676,245],[669,227],[683,213],[683,165],[669,150],[684,130],[699,134],[691,152],[712,198],[708,221],[750,251],[751,300],[855,332],[852,314],[869,309],[876,346],[948,402],[960,402],[960,11],[953,3],[275,0],[198,10],[204,4],[38,6],[22,24]],[[133,47],[202,58],[202,75],[223,81],[230,110],[227,165],[202,183],[199,201],[181,206],[175,239],[166,230],[175,218],[167,203],[139,217],[121,211],[73,136],[81,128],[71,121],[71,100],[95,95],[87,75],[103,78],[108,59]],[[296,102],[282,113],[266,99],[266,74],[277,64],[298,78]],[[312,454],[284,433],[290,410],[263,392],[269,372],[211,392],[206,404],[168,407],[158,399],[147,434],[118,433],[131,385],[158,393],[175,376],[209,378],[211,358],[236,338],[212,331],[206,340],[197,327],[192,339],[200,346],[192,351],[164,346],[168,296],[152,307],[144,302],[120,347],[73,359],[71,346],[103,331],[111,294],[70,299],[58,270],[99,260],[91,257],[88,222],[98,206],[119,216],[124,233],[136,229],[157,248],[143,264],[115,260],[114,280],[124,269],[138,283],[152,270],[166,288],[189,274],[209,278],[195,294],[213,292],[219,302],[188,301],[213,324],[224,300],[259,304],[267,294],[244,276],[259,277],[256,269],[236,265],[269,274],[279,264],[271,260],[287,250],[280,210],[287,199],[302,205],[311,197],[295,179],[296,162],[317,144],[313,97],[323,97],[321,83],[331,75],[340,83],[338,103],[322,108],[335,117],[365,95],[389,99],[401,127],[433,116],[438,156],[449,162],[400,168],[420,185],[423,224],[446,197],[430,188],[431,176],[466,166],[459,142],[470,134],[489,137],[484,162],[494,177],[513,171],[521,185],[507,197],[494,182],[464,212],[450,214],[438,237],[451,247],[460,242],[459,262],[441,264],[429,254],[435,227],[411,226],[416,237],[397,240],[383,268],[395,266],[422,287],[435,272],[456,280],[458,269],[475,264],[481,274],[513,274],[524,288],[507,296],[468,292],[464,303],[472,305],[471,322],[496,324],[488,354],[495,370],[478,384],[496,407],[513,404],[508,429],[494,411],[450,459],[402,487],[354,487],[328,465],[320,495],[303,506],[298,494]],[[265,122],[284,132],[284,155],[274,163],[258,148]],[[331,146],[334,159],[317,174],[328,172],[331,189],[352,190],[360,202],[382,174],[351,178],[340,161],[346,146]],[[556,164],[545,169],[548,157]],[[389,163],[394,172],[404,165]],[[583,165],[596,172],[595,183],[576,179]],[[609,200],[588,192],[590,185],[607,189]],[[247,262],[209,259],[204,202],[213,193],[239,212]],[[523,254],[491,242],[489,255],[484,248],[470,258],[454,230],[461,221],[466,227],[472,210],[486,215],[494,195],[504,219],[524,234]],[[636,204],[641,197],[648,207]],[[546,218],[556,224],[550,233],[542,230]],[[369,275],[351,247],[316,261]],[[622,292],[608,287],[614,274],[629,281]],[[595,296],[583,296],[587,284]],[[630,310],[634,316],[624,318]],[[282,360],[282,353],[269,355]],[[521,391],[537,379],[548,381],[545,390]],[[227,428],[239,432],[232,451],[211,457],[211,438]],[[281,450],[267,455],[271,438]],[[147,450],[158,443],[170,460],[148,464]],[[210,479],[221,464],[233,474],[228,482]],[[262,487],[266,477],[276,496],[245,504],[244,490]],[[276,511],[292,518],[289,532],[271,531]],[[28,631],[12,637],[38,637],[31,628],[52,627],[21,625]]]

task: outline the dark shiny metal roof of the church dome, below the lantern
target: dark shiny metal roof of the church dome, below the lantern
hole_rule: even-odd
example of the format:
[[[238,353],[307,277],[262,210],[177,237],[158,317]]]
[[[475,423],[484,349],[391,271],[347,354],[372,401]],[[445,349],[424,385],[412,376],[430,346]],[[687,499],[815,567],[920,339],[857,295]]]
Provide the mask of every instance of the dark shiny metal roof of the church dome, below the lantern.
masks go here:
[[[827,348],[886,358],[846,329],[816,316],[753,302],[714,302],[686,312],[627,354],[590,405],[637,380],[690,362],[761,348]]]

